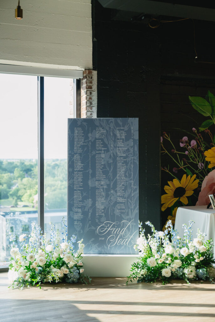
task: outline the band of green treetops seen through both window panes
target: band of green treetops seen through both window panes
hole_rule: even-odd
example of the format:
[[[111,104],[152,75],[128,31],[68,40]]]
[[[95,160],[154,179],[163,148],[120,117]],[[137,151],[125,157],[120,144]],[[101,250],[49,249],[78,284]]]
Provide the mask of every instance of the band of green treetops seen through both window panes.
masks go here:
[[[17,207],[24,202],[26,205],[34,204],[37,209],[37,193],[37,160],[0,160],[0,204]],[[66,196],[66,159],[46,160],[45,209],[66,208]],[[2,199],[5,199],[4,204]]]

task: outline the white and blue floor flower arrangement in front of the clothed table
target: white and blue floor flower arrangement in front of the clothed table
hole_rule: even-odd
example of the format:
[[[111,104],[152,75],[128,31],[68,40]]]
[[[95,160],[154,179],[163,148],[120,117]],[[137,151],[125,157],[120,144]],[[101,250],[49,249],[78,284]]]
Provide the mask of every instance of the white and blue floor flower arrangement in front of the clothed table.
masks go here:
[[[183,279],[188,284],[191,280],[212,280],[215,277],[215,263],[211,252],[213,241],[205,240],[205,234],[197,230],[197,238],[193,239],[194,221],[183,225],[184,236],[180,238],[169,220],[164,232],[155,230],[150,222],[152,235],[146,237],[140,223],[140,237],[134,246],[139,251],[138,261],[132,264],[129,281],[153,282],[161,279],[167,284],[170,279]]]

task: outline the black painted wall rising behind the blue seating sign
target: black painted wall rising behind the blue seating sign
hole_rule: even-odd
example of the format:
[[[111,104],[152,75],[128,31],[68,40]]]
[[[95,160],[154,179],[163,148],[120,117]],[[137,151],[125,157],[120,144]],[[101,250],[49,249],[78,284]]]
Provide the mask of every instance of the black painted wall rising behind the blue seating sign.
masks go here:
[[[194,62],[192,20],[151,29],[146,24],[111,20],[111,9],[104,9],[97,0],[92,9],[97,117],[139,118],[140,220],[150,220],[160,229],[160,84],[187,77],[214,79],[215,65]],[[214,23],[195,22],[198,54],[215,62],[213,31]]]

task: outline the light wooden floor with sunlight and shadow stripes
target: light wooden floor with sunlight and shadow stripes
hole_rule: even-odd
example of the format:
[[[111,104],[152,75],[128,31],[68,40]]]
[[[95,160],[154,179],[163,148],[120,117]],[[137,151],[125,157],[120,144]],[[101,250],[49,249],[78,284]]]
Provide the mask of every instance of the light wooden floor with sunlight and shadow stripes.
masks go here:
[[[215,285],[174,281],[130,283],[125,278],[93,278],[90,285],[45,284],[8,289],[0,273],[1,322],[215,321]]]

